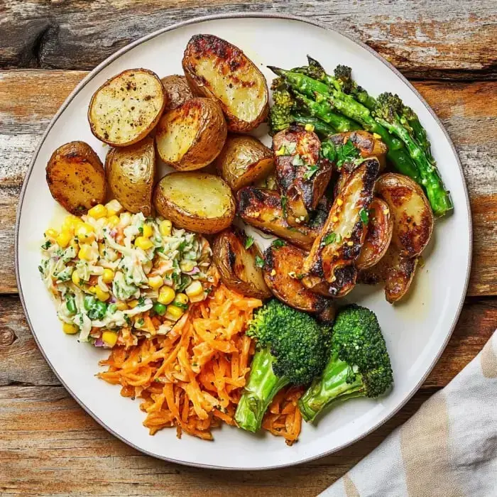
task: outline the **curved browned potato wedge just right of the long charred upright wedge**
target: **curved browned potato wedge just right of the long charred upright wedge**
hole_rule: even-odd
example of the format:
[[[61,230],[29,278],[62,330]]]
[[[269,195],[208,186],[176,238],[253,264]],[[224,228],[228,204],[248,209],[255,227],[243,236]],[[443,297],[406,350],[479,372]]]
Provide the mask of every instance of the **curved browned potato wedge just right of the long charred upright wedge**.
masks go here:
[[[366,239],[356,261],[356,268],[371,268],[385,255],[393,233],[393,219],[388,204],[373,198],[369,206],[369,222]]]

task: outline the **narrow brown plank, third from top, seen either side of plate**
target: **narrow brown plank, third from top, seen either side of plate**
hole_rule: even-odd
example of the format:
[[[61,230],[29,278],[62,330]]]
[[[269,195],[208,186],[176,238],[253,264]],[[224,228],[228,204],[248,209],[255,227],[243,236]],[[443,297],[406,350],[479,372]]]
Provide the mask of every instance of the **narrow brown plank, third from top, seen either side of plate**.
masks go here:
[[[497,300],[466,300],[447,349],[423,388],[447,385],[483,348],[496,322]],[[24,319],[21,302],[14,295],[0,297],[0,364],[0,387],[60,385],[38,350]]]

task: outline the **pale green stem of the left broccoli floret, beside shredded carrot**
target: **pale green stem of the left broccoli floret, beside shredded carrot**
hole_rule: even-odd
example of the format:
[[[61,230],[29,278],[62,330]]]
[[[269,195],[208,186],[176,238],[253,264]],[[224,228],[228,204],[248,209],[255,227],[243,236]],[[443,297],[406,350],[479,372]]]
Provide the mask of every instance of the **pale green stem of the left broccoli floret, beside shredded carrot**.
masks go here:
[[[274,356],[268,348],[253,356],[249,381],[235,413],[236,424],[249,432],[261,429],[264,413],[274,396],[290,383],[285,376],[279,378],[275,375],[273,361]]]

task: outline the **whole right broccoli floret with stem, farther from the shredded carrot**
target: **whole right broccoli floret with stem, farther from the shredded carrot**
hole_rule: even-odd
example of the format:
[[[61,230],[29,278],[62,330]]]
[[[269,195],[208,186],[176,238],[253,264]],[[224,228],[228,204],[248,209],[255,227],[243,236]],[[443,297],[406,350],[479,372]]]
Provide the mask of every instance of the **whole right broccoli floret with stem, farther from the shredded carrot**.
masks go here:
[[[338,400],[378,397],[393,383],[393,373],[376,315],[366,307],[344,307],[334,322],[331,354],[322,376],[299,401],[306,421]]]

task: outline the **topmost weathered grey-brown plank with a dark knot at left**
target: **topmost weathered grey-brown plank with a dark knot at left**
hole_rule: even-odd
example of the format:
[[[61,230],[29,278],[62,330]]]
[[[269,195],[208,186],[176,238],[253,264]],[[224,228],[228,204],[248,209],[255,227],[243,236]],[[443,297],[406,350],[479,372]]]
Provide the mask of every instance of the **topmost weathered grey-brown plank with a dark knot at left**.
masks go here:
[[[92,69],[143,35],[219,12],[292,13],[368,43],[412,77],[496,77],[491,1],[10,0],[0,30],[0,67]],[[84,26],[84,29],[82,29]],[[461,35],[464,33],[464,36]]]

